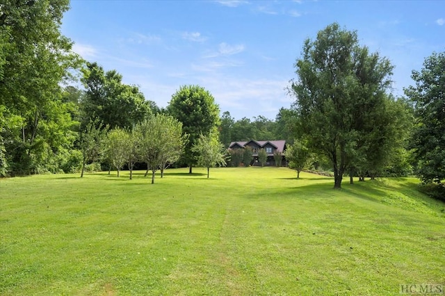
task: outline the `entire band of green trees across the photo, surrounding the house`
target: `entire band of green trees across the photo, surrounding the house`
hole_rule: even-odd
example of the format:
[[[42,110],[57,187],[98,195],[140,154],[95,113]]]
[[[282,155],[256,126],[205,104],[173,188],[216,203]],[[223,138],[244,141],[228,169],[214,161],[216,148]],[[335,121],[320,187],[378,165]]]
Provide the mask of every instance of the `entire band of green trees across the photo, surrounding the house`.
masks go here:
[[[293,105],[274,120],[235,120],[220,116],[199,85],[179,87],[159,108],[116,70],[86,62],[60,33],[68,9],[68,0],[1,4],[1,176],[83,174],[100,161],[118,172],[144,162],[153,177],[172,163],[189,172],[223,164],[232,141],[286,140],[292,167],[330,167],[335,188],[344,175],[445,179],[444,52],[427,57],[412,72],[415,85],[394,97],[390,60],[359,44],[356,31],[330,24],[302,46],[288,88]],[[84,90],[66,86],[76,73]]]

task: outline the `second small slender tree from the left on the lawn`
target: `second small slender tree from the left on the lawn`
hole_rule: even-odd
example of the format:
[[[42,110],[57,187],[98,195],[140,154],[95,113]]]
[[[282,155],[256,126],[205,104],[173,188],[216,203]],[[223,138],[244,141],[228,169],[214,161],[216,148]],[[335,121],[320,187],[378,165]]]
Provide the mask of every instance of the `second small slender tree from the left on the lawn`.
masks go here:
[[[120,170],[125,163],[127,163],[129,153],[131,153],[131,138],[129,133],[120,128],[108,131],[105,140],[105,149],[108,158],[118,170],[118,176],[120,176]]]

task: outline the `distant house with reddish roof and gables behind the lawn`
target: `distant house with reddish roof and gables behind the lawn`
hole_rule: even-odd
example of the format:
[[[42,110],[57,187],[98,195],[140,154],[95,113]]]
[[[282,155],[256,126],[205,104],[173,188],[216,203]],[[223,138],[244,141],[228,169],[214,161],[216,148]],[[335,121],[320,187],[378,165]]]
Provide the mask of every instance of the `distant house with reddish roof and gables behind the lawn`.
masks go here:
[[[250,147],[253,152],[253,161],[250,165],[261,165],[258,161],[258,151],[259,149],[266,150],[267,161],[265,165],[275,166],[275,158],[273,154],[275,152],[280,152],[284,154],[286,151],[286,141],[285,140],[269,140],[269,141],[256,141],[250,140],[247,142],[231,142],[229,149],[244,149],[245,147]],[[282,156],[282,165],[286,165],[284,155]]]

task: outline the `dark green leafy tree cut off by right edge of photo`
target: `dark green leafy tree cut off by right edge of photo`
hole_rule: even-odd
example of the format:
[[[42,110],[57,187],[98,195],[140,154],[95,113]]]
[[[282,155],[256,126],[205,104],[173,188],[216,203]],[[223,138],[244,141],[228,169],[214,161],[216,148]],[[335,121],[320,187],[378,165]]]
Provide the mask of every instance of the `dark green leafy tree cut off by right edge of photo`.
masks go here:
[[[405,94],[414,102],[416,172],[424,183],[440,183],[445,179],[445,51],[426,58],[411,77],[416,84]]]

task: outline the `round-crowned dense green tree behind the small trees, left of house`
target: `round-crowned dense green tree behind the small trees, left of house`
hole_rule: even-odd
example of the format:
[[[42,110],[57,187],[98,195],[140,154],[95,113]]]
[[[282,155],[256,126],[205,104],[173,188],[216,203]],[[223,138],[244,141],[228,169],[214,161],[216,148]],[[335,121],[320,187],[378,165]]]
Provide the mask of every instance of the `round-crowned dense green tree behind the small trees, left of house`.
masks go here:
[[[219,107],[209,91],[199,85],[184,85],[172,95],[167,112],[182,122],[183,133],[188,134],[183,158],[192,173],[197,163],[197,153],[192,147],[201,134],[209,135],[220,124]]]

